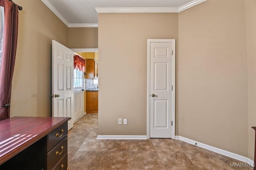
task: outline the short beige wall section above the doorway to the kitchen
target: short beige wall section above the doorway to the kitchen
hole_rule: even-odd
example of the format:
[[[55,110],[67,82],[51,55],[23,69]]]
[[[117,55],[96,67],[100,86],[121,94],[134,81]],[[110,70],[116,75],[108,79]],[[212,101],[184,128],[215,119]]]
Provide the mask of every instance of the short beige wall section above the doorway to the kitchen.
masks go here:
[[[68,28],[68,48],[98,48],[98,28]]]

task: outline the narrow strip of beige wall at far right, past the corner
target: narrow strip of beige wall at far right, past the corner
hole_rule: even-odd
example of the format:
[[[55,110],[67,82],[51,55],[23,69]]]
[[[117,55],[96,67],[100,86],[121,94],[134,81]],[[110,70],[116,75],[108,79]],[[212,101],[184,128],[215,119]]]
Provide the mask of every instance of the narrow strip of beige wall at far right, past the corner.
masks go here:
[[[248,60],[248,157],[254,159],[256,126],[256,0],[245,0],[246,38]]]

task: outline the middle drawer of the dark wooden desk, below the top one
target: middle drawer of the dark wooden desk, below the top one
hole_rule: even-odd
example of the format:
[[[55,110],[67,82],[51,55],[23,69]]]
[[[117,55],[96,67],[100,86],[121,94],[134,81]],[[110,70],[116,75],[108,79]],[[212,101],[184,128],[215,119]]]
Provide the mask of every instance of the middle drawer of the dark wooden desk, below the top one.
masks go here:
[[[47,153],[47,169],[51,170],[68,153],[68,136]]]

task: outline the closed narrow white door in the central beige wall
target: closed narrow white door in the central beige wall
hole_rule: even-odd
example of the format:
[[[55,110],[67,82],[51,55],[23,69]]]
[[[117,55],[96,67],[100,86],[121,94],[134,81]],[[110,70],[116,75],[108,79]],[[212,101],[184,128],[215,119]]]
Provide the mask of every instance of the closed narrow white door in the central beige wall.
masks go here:
[[[172,138],[175,40],[148,43],[150,138]]]

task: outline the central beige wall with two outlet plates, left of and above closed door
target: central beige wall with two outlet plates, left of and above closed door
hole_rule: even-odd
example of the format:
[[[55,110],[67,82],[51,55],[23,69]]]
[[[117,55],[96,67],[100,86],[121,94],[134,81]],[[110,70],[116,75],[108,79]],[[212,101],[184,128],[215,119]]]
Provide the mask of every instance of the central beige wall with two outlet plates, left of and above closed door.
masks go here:
[[[178,14],[99,14],[99,135],[146,135],[147,39],[178,39]],[[118,125],[126,118],[128,125]]]

